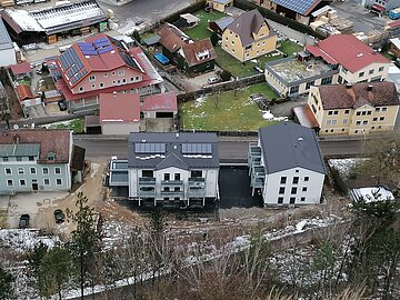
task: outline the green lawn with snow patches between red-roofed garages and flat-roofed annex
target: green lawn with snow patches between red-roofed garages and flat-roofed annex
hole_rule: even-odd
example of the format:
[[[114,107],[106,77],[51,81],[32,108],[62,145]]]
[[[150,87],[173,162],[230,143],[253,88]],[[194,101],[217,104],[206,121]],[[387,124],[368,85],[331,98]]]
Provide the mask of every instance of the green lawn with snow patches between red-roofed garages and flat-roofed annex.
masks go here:
[[[234,91],[228,91],[182,103],[179,113],[183,129],[257,131],[260,127],[276,123],[276,121],[262,119],[259,107],[249,99],[251,93],[257,92],[263,92],[271,98],[277,97],[267,83],[258,83],[238,90],[236,96]]]

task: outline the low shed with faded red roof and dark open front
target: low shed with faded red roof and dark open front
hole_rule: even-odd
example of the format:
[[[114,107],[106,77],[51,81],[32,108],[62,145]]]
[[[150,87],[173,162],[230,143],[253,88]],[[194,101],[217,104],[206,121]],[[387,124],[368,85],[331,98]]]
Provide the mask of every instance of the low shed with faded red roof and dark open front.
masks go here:
[[[174,118],[178,113],[177,94],[174,91],[151,94],[143,99],[141,107],[144,119]]]

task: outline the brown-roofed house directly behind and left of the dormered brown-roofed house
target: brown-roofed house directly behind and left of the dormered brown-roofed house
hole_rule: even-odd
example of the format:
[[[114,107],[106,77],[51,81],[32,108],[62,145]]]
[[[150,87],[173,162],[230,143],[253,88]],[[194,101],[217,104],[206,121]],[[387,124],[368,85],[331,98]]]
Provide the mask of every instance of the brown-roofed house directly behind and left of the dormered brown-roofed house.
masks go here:
[[[161,37],[159,43],[162,47],[162,54],[177,64],[179,49],[189,43],[191,39],[179,28],[170,23],[164,23],[158,34]]]

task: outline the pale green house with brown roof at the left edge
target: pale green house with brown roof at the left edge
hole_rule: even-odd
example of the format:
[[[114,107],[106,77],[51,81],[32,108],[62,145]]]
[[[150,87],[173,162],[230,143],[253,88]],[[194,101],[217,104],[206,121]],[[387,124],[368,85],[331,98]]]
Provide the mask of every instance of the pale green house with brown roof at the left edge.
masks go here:
[[[0,193],[70,190],[83,171],[84,149],[69,130],[7,130],[0,134]]]

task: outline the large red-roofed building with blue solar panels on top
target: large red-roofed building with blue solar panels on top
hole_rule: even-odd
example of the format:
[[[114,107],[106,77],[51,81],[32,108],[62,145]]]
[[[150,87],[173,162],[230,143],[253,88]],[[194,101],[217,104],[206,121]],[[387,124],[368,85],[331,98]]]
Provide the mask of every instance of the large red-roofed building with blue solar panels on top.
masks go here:
[[[163,92],[162,78],[140,48],[106,34],[73,43],[49,61],[57,89],[71,110],[99,103],[100,93]]]

